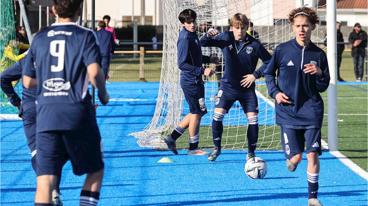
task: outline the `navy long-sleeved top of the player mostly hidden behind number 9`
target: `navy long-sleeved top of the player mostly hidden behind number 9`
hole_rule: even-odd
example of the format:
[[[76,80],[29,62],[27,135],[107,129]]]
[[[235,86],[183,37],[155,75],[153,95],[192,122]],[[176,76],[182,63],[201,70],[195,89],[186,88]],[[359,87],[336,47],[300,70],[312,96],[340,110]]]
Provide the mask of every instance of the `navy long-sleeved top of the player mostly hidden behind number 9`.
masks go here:
[[[9,102],[13,106],[18,107],[22,102],[22,110],[25,111],[29,108],[36,107],[36,88],[26,89],[23,87],[22,99],[15,93],[12,81],[18,81],[22,78],[22,69],[25,59],[21,59],[13,66],[7,68],[0,74],[0,86],[4,93],[8,96]]]

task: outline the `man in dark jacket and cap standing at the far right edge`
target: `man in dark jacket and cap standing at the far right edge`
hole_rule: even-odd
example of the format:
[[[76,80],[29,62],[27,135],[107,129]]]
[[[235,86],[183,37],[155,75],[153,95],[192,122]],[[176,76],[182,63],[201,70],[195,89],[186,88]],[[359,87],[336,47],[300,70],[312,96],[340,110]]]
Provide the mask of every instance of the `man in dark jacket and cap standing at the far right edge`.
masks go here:
[[[354,61],[354,72],[357,82],[361,82],[363,78],[364,56],[365,46],[367,45],[368,35],[367,32],[361,29],[359,23],[354,25],[353,32],[349,35],[349,42],[353,43],[351,49],[351,56]]]

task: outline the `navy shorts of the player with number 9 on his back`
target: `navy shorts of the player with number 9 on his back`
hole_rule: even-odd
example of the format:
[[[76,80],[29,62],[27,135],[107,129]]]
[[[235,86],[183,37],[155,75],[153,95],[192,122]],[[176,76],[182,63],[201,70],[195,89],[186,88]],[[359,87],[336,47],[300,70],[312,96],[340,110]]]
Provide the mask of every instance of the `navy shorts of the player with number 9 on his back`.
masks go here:
[[[39,132],[36,134],[36,144],[38,176],[60,174],[66,157],[70,159],[76,175],[94,173],[104,168],[98,127]]]

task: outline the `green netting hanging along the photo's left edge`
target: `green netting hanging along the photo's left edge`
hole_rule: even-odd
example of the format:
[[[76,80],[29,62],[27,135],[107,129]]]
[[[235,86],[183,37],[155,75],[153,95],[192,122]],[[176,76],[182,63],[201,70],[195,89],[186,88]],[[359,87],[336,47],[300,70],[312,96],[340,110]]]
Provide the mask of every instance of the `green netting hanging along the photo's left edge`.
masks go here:
[[[0,75],[15,64],[18,46],[15,37],[14,1],[0,0]],[[17,82],[13,82],[15,92],[19,94]],[[10,104],[8,97],[0,89],[0,114],[17,114],[18,110]]]

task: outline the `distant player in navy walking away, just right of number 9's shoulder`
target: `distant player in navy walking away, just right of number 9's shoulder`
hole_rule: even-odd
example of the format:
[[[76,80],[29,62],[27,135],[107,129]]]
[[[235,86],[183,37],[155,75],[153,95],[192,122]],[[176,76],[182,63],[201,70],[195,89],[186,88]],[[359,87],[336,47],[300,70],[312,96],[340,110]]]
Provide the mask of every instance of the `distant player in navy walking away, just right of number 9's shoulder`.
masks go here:
[[[104,21],[99,21],[98,27],[99,30],[96,31],[96,35],[101,52],[102,72],[106,79],[107,70],[109,69],[110,66],[111,55],[115,51],[115,42],[112,33],[105,30],[106,25]]]

